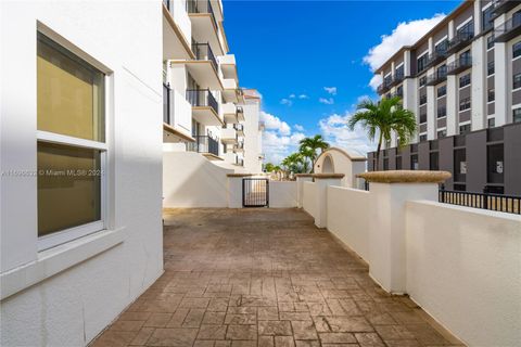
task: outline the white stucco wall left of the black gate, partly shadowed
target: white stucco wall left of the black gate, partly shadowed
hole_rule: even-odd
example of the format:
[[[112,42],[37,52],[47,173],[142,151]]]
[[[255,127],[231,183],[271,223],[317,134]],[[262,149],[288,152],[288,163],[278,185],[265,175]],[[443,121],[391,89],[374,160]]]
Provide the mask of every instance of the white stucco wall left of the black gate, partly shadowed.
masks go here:
[[[163,207],[228,207],[227,174],[200,153],[163,153]]]

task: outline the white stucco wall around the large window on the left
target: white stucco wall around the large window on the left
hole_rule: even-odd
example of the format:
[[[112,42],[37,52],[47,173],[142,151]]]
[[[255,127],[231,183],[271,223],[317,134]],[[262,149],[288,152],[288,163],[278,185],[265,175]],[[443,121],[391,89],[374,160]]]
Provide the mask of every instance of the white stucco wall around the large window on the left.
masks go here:
[[[1,180],[0,345],[84,346],[163,272],[161,2],[0,7],[2,170],[37,169],[38,23],[110,79],[107,230],[37,252],[36,176]]]

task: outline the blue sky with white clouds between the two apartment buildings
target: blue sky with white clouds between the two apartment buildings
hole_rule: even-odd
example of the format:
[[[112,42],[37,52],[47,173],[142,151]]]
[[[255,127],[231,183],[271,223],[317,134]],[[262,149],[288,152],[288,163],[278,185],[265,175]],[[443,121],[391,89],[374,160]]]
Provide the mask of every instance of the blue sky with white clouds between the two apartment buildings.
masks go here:
[[[345,128],[357,101],[376,98],[371,66],[416,41],[458,3],[225,0],[240,85],[263,95],[267,159],[279,162],[316,133],[352,151],[371,149],[361,130]]]

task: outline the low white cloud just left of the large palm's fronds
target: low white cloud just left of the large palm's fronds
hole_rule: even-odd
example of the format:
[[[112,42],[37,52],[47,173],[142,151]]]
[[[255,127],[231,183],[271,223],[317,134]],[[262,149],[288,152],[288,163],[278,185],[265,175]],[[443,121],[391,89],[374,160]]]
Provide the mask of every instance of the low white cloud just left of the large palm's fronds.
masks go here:
[[[344,115],[332,114],[322,118],[318,123],[320,131],[332,146],[366,155],[367,152],[374,150],[374,144],[368,140],[364,129],[356,127],[354,131],[350,130],[347,127],[350,117],[351,113],[346,112]]]

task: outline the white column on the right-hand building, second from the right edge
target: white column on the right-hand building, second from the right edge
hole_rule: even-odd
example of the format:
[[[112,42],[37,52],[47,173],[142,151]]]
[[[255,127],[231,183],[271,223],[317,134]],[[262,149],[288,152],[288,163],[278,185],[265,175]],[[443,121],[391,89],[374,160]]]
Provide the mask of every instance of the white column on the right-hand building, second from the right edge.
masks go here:
[[[479,3],[479,1],[476,1]],[[481,9],[480,9],[481,11]],[[471,129],[486,128],[486,50],[485,38],[482,36],[472,42],[472,74],[471,74]]]

